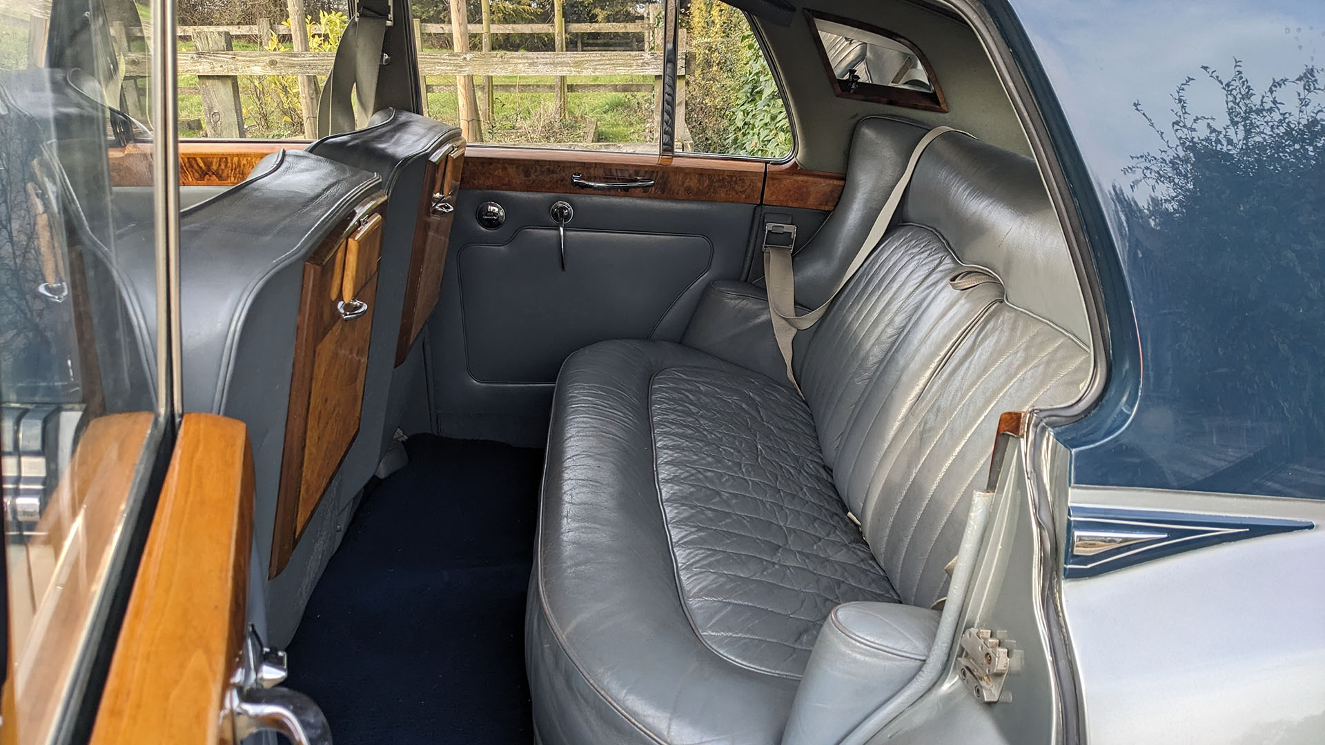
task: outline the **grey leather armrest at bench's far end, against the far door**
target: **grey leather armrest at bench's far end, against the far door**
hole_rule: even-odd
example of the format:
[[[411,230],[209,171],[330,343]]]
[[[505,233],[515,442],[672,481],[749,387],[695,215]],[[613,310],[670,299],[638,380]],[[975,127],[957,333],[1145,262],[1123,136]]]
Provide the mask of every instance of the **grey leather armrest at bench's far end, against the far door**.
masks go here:
[[[796,335],[798,351],[811,331]],[[768,321],[768,296],[750,282],[718,280],[710,284],[681,343],[763,372],[779,383],[787,382],[786,363]]]

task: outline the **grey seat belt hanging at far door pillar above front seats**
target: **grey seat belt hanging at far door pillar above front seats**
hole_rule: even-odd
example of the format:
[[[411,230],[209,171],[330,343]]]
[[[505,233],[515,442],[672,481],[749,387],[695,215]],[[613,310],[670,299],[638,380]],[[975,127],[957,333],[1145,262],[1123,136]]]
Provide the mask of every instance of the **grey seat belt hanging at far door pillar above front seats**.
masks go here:
[[[331,72],[322,86],[322,97],[318,98],[318,137],[358,129],[355,103],[363,119],[376,113],[382,46],[391,24],[391,0],[359,0],[355,4],[354,17],[344,27]]]

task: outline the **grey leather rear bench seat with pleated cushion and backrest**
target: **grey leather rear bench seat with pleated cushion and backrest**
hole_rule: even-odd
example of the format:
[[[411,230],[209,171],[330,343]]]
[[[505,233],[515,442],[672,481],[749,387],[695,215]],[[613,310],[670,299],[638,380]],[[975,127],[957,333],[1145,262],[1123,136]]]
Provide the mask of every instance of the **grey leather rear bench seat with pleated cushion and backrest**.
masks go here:
[[[857,127],[798,301],[832,274],[816,260],[855,252],[892,187],[880,174],[924,131]],[[1086,333],[1035,164],[949,134],[796,337],[804,399],[742,282],[710,288],[684,343],[574,354],[526,619],[541,741],[836,742],[928,652],[998,415],[1075,400]]]

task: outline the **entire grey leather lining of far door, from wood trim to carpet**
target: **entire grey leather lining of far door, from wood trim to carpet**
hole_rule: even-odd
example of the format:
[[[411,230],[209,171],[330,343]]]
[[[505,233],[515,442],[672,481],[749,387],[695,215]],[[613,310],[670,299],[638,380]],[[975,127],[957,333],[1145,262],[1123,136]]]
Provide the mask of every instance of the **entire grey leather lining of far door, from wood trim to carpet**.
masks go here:
[[[506,211],[496,231],[476,219],[489,200]],[[575,209],[564,273],[550,216],[558,200]],[[680,339],[709,282],[743,272],[754,209],[462,190],[427,331],[440,432],[542,445],[566,355],[607,338]]]

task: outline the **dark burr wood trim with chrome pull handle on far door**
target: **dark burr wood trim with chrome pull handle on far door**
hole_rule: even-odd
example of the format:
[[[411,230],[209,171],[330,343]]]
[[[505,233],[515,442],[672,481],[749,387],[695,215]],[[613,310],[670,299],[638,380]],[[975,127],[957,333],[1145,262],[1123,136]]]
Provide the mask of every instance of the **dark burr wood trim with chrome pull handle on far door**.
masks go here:
[[[763,160],[676,155],[662,158],[633,152],[587,150],[538,150],[522,147],[470,146],[461,188],[485,191],[539,191],[636,196],[644,199],[688,199],[759,204],[763,195]],[[648,188],[595,191],[579,188],[571,176],[588,180],[653,179]]]

